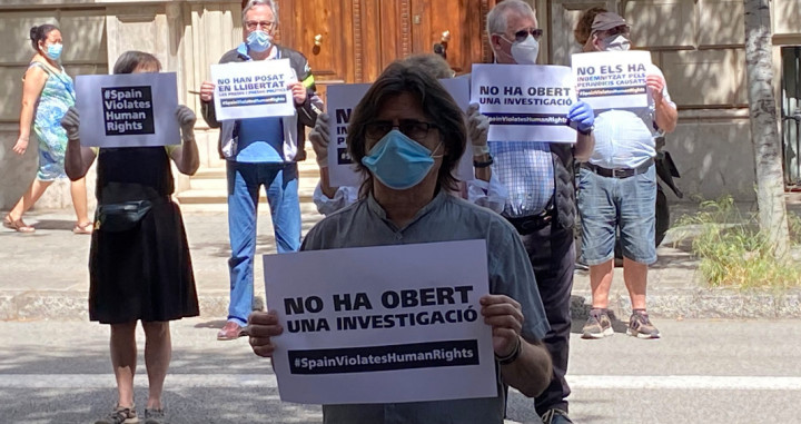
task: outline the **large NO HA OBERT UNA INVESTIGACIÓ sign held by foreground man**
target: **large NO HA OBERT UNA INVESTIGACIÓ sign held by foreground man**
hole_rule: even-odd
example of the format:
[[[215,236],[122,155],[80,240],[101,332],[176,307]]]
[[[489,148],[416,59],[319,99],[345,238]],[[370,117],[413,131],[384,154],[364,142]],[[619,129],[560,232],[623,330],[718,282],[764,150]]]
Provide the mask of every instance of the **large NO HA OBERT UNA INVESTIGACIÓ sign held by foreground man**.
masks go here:
[[[485,240],[264,257],[280,398],[309,404],[497,396]]]

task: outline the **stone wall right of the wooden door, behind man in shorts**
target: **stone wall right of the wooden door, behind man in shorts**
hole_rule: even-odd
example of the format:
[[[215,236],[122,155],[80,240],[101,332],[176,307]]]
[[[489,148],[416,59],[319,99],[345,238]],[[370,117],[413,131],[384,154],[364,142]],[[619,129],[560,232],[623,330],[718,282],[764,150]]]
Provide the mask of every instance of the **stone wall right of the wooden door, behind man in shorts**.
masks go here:
[[[665,149],[676,161],[682,174],[678,184],[688,198],[753,200],[742,0],[548,0],[553,63],[570,65],[570,55],[580,50],[573,28],[581,12],[595,6],[626,18],[632,43],[650,50],[665,75],[679,106],[679,126],[668,135]],[[779,51],[801,45],[801,2],[774,0],[771,8],[778,92]]]

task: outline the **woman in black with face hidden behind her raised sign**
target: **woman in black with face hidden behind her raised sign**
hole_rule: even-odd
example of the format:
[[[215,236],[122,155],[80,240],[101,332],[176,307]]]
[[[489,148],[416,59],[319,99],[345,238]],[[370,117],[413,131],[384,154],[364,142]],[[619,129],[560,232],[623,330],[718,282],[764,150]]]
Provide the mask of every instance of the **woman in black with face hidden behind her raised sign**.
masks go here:
[[[117,60],[113,72],[160,69],[152,55],[128,51]],[[111,364],[119,396],[113,412],[98,424],[138,422],[134,404],[137,321],[145,329],[149,381],[145,423],[162,423],[161,391],[172,352],[169,322],[198,315],[184,221],[178,205],[170,200],[174,180],[169,162],[172,159],[182,174],[197,171],[196,118],[189,108],[179,106],[176,119],[181,128],[180,145],[100,149],[80,146],[75,108],[61,122],[69,138],[67,175],[79,179],[98,159],[89,317],[111,325]]]

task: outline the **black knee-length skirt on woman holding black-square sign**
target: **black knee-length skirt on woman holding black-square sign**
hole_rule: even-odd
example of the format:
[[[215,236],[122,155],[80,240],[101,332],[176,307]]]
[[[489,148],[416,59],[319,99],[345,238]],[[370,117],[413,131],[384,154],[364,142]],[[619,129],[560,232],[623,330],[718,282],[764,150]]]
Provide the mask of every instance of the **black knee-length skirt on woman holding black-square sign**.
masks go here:
[[[166,322],[199,314],[178,205],[154,204],[130,230],[92,233],[89,318],[103,324]]]

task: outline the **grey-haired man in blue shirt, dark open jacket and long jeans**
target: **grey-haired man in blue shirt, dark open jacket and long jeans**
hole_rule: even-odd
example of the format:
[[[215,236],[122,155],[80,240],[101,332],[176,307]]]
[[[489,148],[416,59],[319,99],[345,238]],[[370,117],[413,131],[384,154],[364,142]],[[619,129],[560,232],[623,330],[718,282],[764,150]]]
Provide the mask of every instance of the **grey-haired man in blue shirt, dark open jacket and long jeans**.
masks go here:
[[[241,336],[251,310],[261,186],[267,190],[278,253],[297,252],[300,247],[297,160],[306,158],[304,126],[314,126],[322,103],[314,91],[314,77],[306,58],[273,43],[277,18],[274,0],[250,0],[243,10],[245,41],[225,53],[220,63],[289,59],[298,79],[289,85],[295,100],[294,116],[220,122],[215,116],[215,85],[205,81],[200,88],[204,119],[209,127],[220,128],[220,157],[227,159],[230,304],[228,322],[217,334],[221,341]]]

